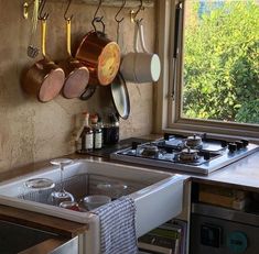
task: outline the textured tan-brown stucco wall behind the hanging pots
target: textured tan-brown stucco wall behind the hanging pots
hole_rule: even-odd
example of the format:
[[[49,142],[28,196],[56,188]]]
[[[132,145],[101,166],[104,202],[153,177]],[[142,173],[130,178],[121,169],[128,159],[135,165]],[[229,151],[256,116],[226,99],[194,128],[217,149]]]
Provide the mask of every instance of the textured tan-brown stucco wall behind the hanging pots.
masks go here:
[[[74,1],[71,11],[74,13],[72,26],[73,48],[76,42],[91,30],[90,20],[96,7]],[[0,172],[48,159],[72,153],[78,114],[82,111],[104,111],[110,107],[109,89],[98,87],[88,101],[67,100],[58,96],[47,103],[40,103],[29,97],[20,86],[21,73],[41,56],[31,59],[26,56],[30,37],[30,20],[22,16],[22,0],[0,0]],[[65,24],[63,12],[65,2],[50,1],[47,27],[47,54],[58,60],[66,57]],[[116,40],[116,8],[101,8],[107,34]],[[144,18],[147,44],[154,47],[155,19],[154,8],[141,12]],[[129,9],[121,25],[121,48],[123,53],[132,51],[133,24],[129,19]],[[40,31],[39,31],[40,32]],[[40,42],[40,34],[37,35]],[[39,43],[40,44],[40,43]],[[131,101],[131,113],[128,120],[120,120],[120,137],[149,134],[152,129],[153,87],[151,84],[127,84]]]

